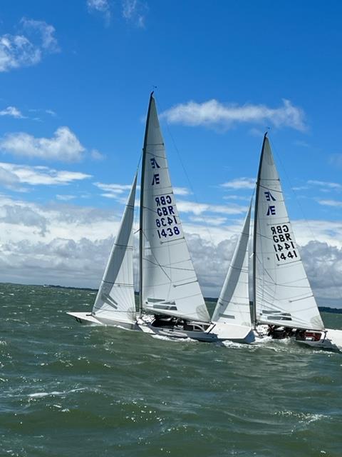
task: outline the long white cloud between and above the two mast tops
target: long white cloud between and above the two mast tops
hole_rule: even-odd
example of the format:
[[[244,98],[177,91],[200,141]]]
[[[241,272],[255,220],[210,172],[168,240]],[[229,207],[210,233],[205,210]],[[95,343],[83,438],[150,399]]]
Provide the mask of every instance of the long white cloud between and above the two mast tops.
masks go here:
[[[187,126],[221,126],[232,127],[237,123],[271,123],[276,127],[291,127],[296,130],[305,130],[304,111],[283,99],[279,108],[269,108],[265,105],[222,104],[217,100],[196,103],[189,101],[186,104],[173,106],[164,111],[162,116],[171,123]]]

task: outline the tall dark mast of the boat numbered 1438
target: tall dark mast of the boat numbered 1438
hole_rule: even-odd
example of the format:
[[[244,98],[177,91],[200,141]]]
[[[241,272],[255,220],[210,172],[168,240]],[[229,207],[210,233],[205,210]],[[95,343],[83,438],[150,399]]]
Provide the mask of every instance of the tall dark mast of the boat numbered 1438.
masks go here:
[[[146,159],[146,146],[147,146],[147,134],[148,134],[148,125],[150,122],[150,111],[151,104],[153,99],[153,92],[150,94],[150,102],[148,104],[146,126],[145,126],[145,138],[144,146],[142,146],[142,165],[141,165],[141,183],[140,183],[140,218],[139,218],[139,316],[142,316],[142,255],[144,251],[144,236],[142,230],[143,224],[143,213],[142,209],[144,207],[144,181],[145,181],[145,159]]]

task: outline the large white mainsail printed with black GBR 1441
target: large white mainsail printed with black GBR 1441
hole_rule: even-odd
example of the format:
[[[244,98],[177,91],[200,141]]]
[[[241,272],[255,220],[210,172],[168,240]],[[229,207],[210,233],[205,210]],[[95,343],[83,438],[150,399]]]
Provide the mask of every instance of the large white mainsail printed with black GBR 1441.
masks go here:
[[[323,330],[266,135],[261,152],[254,218],[256,321]]]

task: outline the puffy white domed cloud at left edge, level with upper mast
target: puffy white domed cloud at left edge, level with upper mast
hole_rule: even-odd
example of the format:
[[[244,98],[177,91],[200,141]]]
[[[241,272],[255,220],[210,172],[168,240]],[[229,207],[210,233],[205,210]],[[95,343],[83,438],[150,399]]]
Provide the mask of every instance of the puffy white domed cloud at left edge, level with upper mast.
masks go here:
[[[24,132],[6,134],[0,149],[15,156],[45,160],[80,161],[85,148],[68,127],[59,127],[52,138],[35,138]]]

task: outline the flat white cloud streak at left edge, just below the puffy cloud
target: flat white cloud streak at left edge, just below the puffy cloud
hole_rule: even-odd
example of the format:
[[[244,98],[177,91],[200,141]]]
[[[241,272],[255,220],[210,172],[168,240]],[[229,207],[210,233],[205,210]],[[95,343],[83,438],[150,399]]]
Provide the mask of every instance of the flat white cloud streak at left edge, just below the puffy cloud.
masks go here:
[[[58,171],[47,166],[27,166],[0,162],[0,184],[6,187],[13,188],[19,184],[31,186],[65,185],[87,178],[91,178],[91,175],[80,171]]]

